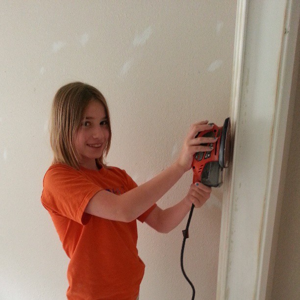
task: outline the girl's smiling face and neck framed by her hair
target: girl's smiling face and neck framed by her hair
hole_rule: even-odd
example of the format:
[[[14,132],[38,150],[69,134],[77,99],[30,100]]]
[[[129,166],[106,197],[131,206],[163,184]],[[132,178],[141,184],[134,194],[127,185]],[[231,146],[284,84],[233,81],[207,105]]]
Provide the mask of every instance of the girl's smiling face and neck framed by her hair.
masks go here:
[[[108,138],[109,128],[104,106],[91,100],[74,138],[75,149],[80,155],[79,165],[97,170],[95,159],[103,154]]]

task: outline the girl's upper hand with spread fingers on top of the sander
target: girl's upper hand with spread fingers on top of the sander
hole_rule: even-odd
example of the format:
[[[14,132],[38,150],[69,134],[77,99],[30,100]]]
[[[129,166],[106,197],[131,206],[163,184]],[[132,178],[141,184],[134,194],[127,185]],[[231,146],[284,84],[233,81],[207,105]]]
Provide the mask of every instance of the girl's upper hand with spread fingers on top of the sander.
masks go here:
[[[194,154],[200,151],[211,151],[213,149],[209,146],[203,146],[201,144],[210,144],[215,143],[215,138],[208,137],[199,137],[195,138],[195,136],[200,131],[209,130],[213,127],[213,125],[207,125],[208,121],[201,121],[199,123],[192,124],[190,126],[190,130],[184,140],[182,150],[177,158],[177,164],[184,170],[184,172],[188,171],[192,167]]]

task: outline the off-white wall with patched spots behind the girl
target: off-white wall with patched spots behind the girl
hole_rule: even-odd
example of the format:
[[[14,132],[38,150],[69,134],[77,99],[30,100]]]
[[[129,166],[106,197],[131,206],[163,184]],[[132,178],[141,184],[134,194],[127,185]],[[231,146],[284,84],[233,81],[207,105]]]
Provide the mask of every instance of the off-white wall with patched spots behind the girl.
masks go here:
[[[229,112],[236,1],[1,1],[0,299],[65,299],[68,259],[40,203],[56,90],[95,85],[111,110],[108,163],[138,184],[168,166],[192,122]],[[162,199],[188,190],[185,175]],[[196,299],[216,297],[222,189],[194,212],[185,270]],[[141,299],[189,299],[181,230],[139,225]]]

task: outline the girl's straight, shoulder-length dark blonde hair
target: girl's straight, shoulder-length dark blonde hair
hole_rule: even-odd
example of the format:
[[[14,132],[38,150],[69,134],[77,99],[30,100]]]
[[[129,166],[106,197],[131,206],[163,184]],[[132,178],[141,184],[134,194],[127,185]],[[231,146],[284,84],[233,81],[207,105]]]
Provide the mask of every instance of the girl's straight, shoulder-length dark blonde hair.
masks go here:
[[[74,135],[80,125],[84,111],[91,100],[103,105],[107,117],[109,137],[98,165],[105,167],[106,157],[111,142],[111,126],[108,106],[104,96],[95,87],[82,82],[72,82],[62,86],[55,94],[50,124],[50,144],[54,163],[64,163],[79,169],[79,154],[74,147]]]

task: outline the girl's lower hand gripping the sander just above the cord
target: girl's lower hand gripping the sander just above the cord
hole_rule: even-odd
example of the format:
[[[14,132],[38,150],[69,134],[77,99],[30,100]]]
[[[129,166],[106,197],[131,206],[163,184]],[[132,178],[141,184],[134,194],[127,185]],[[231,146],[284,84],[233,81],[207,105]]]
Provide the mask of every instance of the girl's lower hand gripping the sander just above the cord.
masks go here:
[[[184,201],[189,206],[194,204],[196,208],[199,208],[206,202],[206,200],[209,199],[211,190],[211,187],[206,186],[200,182],[191,184],[190,189],[184,198]]]

